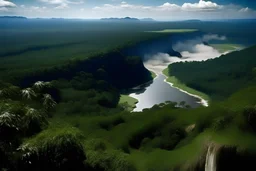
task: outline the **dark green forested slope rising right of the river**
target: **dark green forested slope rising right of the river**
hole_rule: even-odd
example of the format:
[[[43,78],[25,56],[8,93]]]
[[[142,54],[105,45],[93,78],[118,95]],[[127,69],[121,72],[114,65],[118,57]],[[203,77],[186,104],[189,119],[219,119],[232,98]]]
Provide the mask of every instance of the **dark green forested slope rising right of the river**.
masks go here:
[[[169,75],[188,87],[225,99],[241,88],[255,84],[256,46],[203,62],[169,65]]]

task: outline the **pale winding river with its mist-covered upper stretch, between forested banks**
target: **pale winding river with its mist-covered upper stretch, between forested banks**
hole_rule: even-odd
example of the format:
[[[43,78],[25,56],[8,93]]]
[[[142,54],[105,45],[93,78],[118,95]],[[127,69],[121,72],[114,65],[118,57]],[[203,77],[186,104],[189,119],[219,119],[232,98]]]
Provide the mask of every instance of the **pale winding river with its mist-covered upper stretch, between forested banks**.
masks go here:
[[[180,50],[179,52],[182,55],[181,58],[169,56],[165,53],[146,56],[144,66],[157,74],[157,77],[147,84],[133,88],[133,93],[131,93],[130,96],[138,100],[136,108],[133,110],[134,112],[142,111],[145,108],[151,108],[156,104],[165,103],[166,101],[177,103],[184,101],[186,105],[189,105],[192,108],[201,105],[208,106],[206,100],[172,87],[170,83],[166,82],[166,76],[162,74],[162,71],[167,68],[169,64],[175,62],[204,61],[220,57],[221,55],[225,55],[235,50],[240,50],[240,48],[235,47],[235,50],[220,53],[217,49],[202,43],[196,43],[192,47],[191,52]]]

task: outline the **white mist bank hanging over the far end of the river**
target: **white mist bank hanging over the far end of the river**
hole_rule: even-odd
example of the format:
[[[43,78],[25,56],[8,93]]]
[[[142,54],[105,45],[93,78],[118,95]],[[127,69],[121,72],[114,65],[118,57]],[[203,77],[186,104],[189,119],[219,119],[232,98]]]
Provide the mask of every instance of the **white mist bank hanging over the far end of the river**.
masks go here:
[[[155,55],[145,55],[144,65],[151,71],[160,74],[162,70],[167,68],[169,64],[185,61],[205,61],[221,56],[221,53],[213,47],[207,45],[206,42],[211,40],[223,41],[225,36],[216,34],[207,34],[192,40],[177,42],[173,45],[175,51],[180,52],[181,58],[170,56],[166,53],[157,53]]]

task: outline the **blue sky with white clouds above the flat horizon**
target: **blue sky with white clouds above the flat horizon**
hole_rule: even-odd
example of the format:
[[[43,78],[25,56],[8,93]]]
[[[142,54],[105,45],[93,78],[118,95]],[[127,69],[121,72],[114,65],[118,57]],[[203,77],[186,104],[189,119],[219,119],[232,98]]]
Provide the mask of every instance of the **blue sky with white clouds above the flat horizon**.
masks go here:
[[[157,20],[256,18],[255,0],[0,0],[0,15]]]

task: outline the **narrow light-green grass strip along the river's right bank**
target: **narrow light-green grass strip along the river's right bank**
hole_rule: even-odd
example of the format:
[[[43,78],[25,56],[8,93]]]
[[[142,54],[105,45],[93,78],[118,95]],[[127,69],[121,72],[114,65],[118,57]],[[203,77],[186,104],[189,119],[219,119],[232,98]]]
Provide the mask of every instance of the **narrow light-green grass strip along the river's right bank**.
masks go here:
[[[197,95],[201,98],[203,98],[204,100],[210,101],[210,97],[207,94],[204,94],[200,91],[197,91],[193,88],[187,87],[185,84],[183,84],[182,82],[180,82],[175,76],[170,77],[169,76],[169,69],[166,68],[165,70],[163,70],[163,74],[165,76],[167,76],[166,81],[169,83],[172,83],[174,87],[177,87],[179,89],[182,89],[190,94],[194,94]]]

